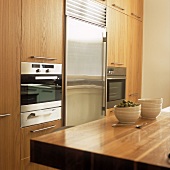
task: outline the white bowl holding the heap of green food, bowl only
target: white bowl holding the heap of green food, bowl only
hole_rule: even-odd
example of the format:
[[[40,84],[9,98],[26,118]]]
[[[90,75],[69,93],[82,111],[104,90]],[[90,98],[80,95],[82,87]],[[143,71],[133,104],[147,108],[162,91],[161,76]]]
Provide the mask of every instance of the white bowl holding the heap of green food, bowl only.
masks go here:
[[[120,123],[135,123],[141,114],[141,105],[135,107],[114,107],[114,113]]]

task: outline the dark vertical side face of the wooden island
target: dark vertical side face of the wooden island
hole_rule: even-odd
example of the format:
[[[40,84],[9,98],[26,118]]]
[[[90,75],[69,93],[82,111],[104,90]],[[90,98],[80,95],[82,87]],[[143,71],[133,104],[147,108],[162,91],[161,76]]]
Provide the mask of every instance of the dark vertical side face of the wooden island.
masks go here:
[[[133,170],[133,161],[31,141],[31,162],[62,170]],[[50,159],[49,159],[50,158]]]

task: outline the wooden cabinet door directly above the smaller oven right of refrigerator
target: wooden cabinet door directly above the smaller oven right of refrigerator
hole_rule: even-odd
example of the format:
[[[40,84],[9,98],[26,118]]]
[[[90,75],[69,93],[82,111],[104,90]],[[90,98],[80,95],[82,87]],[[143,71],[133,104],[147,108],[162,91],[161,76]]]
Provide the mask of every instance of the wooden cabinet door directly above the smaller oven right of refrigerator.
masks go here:
[[[125,67],[127,58],[127,15],[107,8],[107,66]]]

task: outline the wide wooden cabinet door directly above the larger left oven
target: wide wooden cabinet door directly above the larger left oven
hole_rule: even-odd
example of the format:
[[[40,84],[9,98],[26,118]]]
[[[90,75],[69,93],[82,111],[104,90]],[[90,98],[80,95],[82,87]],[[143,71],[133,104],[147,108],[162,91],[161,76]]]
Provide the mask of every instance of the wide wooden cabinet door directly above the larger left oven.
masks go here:
[[[21,61],[62,63],[64,0],[22,0]]]

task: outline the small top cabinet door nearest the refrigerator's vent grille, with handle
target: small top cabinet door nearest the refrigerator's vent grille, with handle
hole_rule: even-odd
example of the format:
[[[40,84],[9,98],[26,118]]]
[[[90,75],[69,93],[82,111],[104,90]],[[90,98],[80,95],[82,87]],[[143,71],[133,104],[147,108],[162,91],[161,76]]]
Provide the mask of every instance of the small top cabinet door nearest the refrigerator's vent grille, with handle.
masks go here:
[[[128,14],[129,12],[128,0],[107,0],[107,6],[125,14]]]

